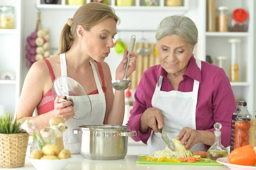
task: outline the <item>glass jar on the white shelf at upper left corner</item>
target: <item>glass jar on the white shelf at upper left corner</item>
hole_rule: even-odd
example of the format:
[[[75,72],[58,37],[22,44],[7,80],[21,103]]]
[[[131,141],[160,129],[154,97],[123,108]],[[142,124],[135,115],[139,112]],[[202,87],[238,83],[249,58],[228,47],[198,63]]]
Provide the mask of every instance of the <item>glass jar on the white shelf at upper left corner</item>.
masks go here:
[[[14,29],[14,18],[13,6],[0,6],[0,29]]]

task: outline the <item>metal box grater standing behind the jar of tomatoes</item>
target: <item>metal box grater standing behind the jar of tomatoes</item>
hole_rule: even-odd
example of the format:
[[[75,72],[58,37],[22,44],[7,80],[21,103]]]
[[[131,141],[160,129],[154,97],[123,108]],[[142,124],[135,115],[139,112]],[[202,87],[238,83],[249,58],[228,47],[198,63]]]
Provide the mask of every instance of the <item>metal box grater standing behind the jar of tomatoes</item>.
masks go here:
[[[231,145],[230,153],[235,149],[235,132],[236,132],[236,118],[251,118],[250,113],[247,109],[247,103],[244,101],[239,101],[237,103],[237,108],[234,114],[232,115],[232,124],[231,124]],[[254,134],[255,137],[255,134]],[[250,138],[250,136],[249,136]]]

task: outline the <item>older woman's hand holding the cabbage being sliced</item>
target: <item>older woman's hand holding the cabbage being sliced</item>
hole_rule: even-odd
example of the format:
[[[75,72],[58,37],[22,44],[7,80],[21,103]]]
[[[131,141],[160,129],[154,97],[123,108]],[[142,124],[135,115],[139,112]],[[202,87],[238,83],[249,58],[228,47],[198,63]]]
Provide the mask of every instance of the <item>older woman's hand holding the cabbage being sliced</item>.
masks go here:
[[[195,144],[200,142],[200,135],[197,130],[184,127],[177,135],[177,139],[181,144],[185,144],[186,149],[190,150]]]

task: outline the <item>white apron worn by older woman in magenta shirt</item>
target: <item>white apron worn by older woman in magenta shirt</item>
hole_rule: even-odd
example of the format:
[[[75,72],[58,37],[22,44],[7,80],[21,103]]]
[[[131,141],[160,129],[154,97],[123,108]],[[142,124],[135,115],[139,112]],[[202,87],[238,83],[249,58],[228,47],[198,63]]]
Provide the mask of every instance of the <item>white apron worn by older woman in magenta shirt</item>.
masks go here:
[[[196,59],[197,66],[201,70],[201,61]],[[170,92],[161,91],[163,77],[159,77],[159,86],[156,85],[152,97],[152,106],[160,109],[163,113],[164,126],[163,131],[169,137],[176,138],[183,127],[196,129],[195,125],[195,109],[198,99],[199,81],[194,80],[192,92],[179,92],[172,90]],[[148,142],[148,154],[157,150],[163,150],[166,147],[161,133],[154,133],[150,136]],[[204,144],[195,144],[191,152],[205,151]]]

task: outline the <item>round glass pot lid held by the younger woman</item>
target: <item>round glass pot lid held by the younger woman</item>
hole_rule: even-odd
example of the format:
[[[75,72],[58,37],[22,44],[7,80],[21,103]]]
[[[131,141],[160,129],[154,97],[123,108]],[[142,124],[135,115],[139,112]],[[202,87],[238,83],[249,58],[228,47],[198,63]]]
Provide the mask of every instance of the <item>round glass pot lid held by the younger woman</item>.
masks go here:
[[[72,106],[76,114],[73,116],[74,119],[84,120],[90,116],[92,111],[90,97],[83,86],[73,78],[69,78],[67,76],[60,76],[56,78],[52,83],[52,95],[54,99],[58,95],[66,97],[65,99],[60,99],[58,101],[59,103],[64,101],[72,102]],[[79,98],[79,101],[74,102],[74,98]],[[81,112],[76,112],[77,110],[84,110],[84,112],[81,114]]]

